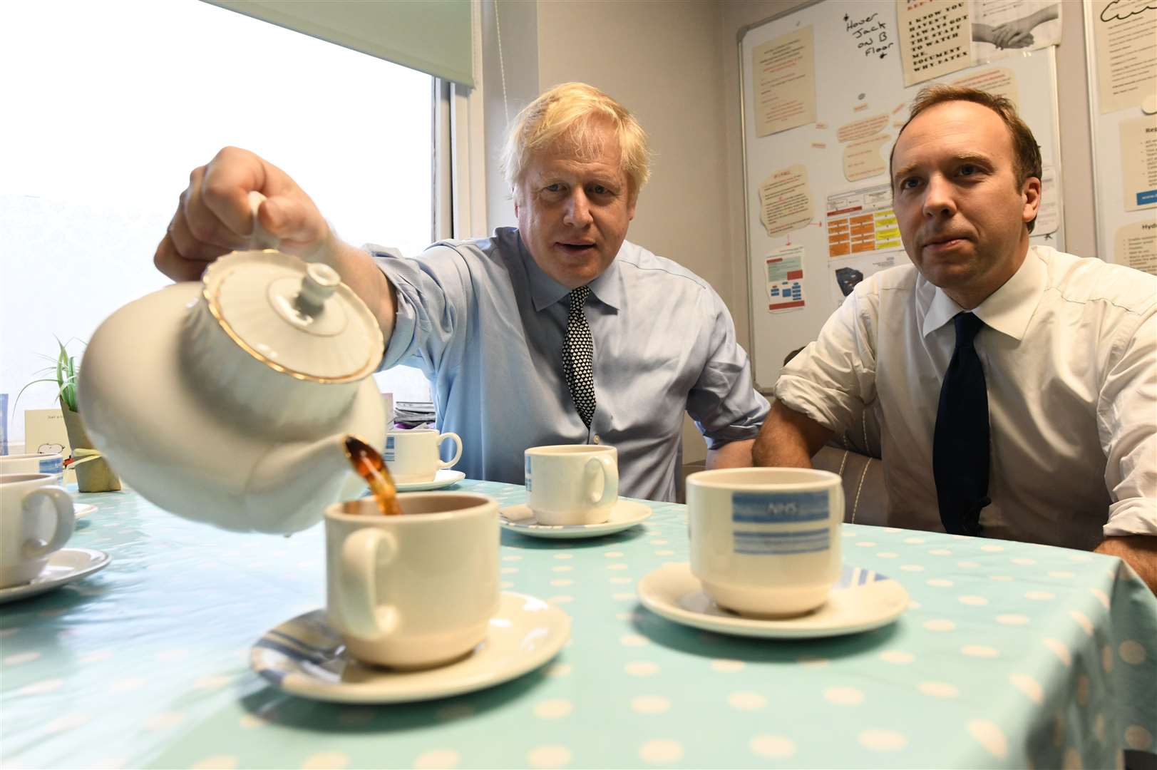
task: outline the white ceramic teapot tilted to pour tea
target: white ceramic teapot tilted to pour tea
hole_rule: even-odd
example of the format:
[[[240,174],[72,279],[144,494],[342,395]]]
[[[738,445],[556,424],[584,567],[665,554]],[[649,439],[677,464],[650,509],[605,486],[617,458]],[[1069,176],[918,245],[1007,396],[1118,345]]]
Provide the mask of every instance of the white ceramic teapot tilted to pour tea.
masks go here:
[[[255,241],[261,197],[251,193]],[[347,433],[385,442],[384,352],[369,308],[325,264],[234,251],[200,283],[126,305],[84,351],[80,412],[134,490],[186,519],[292,533],[363,489]]]

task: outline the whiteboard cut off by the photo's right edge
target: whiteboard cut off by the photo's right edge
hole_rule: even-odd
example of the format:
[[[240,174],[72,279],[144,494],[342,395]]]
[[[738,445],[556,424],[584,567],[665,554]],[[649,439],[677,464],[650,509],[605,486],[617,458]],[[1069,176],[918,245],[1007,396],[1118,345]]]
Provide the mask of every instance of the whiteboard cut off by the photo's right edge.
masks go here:
[[[1143,263],[1135,258],[1130,259],[1129,248],[1125,242],[1125,235],[1129,232],[1134,239],[1148,228],[1154,228],[1157,222],[1157,208],[1152,203],[1152,190],[1145,190],[1144,205],[1141,201],[1132,201],[1127,205],[1127,193],[1137,195],[1136,190],[1128,189],[1128,179],[1125,169],[1123,142],[1121,130],[1127,124],[1141,123],[1144,126],[1157,126],[1157,117],[1145,113],[1140,107],[1122,110],[1112,110],[1101,113],[1100,79],[1098,73],[1098,58],[1110,56],[1108,51],[1099,51],[1097,46],[1098,25],[1107,22],[1101,16],[1108,17],[1108,13],[1117,3],[1105,2],[1084,6],[1085,13],[1085,53],[1089,65],[1089,117],[1092,139],[1092,171],[1093,171],[1093,207],[1096,210],[1097,222],[1097,256],[1105,262],[1115,262],[1142,270],[1154,271],[1152,261]],[[1134,8],[1136,6],[1134,5]],[[1150,28],[1154,25],[1154,17],[1157,16],[1157,8],[1147,6],[1145,10],[1136,15]],[[1150,109],[1157,103],[1157,96],[1150,95]],[[1133,159],[1134,164],[1141,163],[1140,159]],[[1147,185],[1148,186],[1148,185]],[[1138,232],[1140,230],[1140,232]],[[1121,239],[1119,240],[1119,235]]]

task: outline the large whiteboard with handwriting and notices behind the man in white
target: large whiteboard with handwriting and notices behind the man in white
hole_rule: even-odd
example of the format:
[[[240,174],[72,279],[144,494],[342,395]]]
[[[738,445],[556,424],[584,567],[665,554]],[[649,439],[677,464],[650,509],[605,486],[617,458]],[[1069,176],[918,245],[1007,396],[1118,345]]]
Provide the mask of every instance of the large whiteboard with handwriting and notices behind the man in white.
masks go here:
[[[855,23],[872,14],[871,22]],[[862,31],[877,28],[880,21],[883,28],[865,41]],[[931,82],[992,78],[1012,83],[1018,111],[1037,137],[1046,169],[1042,211],[1032,242],[1064,248],[1054,50],[998,59],[905,88],[899,43],[891,35],[896,21],[893,0],[821,0],[739,30],[749,339],[756,387],[764,393],[774,387],[784,355],[817,337],[857,276],[867,277],[891,264],[909,264],[898,230],[887,219],[891,189],[886,163],[899,125],[908,117],[908,103]],[[815,122],[758,137],[753,52],[805,28],[811,28],[815,59]],[[887,138],[878,147],[884,168],[874,176],[849,181],[845,152],[857,141],[848,139],[856,134],[852,124],[865,125],[880,116],[886,116],[878,130]],[[856,157],[864,157],[863,152],[853,153],[848,162],[863,170],[853,170],[853,176],[872,170],[871,163],[857,166]],[[765,189],[776,192],[781,189],[776,175],[794,166],[805,170],[811,217],[801,227],[769,235],[761,221],[767,210],[760,188],[766,183]],[[843,252],[848,237],[856,250]]]

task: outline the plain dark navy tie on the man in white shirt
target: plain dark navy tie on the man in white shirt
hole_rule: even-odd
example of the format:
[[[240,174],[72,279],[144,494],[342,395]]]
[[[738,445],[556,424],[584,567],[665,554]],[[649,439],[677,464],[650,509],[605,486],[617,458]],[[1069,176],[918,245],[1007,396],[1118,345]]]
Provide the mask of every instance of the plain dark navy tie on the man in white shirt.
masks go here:
[[[944,373],[936,433],[933,438],[933,476],[944,530],[979,535],[980,509],[988,498],[988,390],[980,357],[973,347],[985,322],[959,313],[956,350]]]

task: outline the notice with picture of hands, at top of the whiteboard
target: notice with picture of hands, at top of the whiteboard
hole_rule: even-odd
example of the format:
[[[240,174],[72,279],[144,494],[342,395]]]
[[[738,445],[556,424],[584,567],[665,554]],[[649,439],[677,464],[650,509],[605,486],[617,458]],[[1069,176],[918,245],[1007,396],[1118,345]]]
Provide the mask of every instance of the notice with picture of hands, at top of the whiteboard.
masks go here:
[[[1060,0],[972,0],[972,58],[977,61],[1060,42]]]

